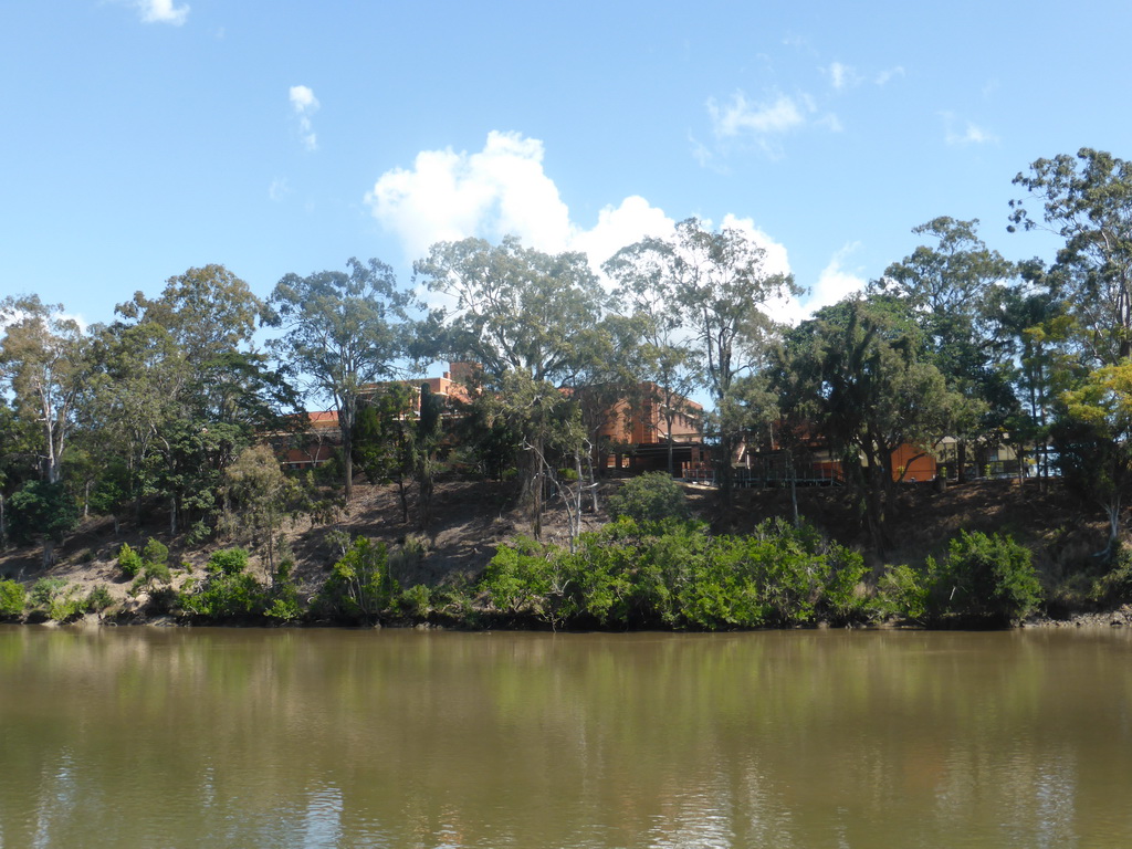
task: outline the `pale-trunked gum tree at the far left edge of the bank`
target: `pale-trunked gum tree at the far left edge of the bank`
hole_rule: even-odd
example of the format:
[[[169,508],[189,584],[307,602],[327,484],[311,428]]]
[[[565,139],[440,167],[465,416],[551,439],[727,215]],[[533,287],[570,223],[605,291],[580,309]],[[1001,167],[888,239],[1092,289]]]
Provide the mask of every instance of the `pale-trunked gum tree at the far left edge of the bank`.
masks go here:
[[[89,341],[62,305],[38,295],[0,301],[0,385],[12,393],[18,414],[38,422],[41,466],[58,483],[75,422],[75,400],[87,375]]]

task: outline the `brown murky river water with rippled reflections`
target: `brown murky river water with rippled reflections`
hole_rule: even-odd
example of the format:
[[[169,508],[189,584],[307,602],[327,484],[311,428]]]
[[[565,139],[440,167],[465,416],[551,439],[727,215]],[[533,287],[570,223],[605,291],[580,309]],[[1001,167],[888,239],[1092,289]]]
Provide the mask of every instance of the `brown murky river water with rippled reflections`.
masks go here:
[[[0,847],[1132,846],[1132,633],[0,627]]]

